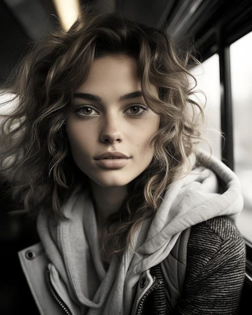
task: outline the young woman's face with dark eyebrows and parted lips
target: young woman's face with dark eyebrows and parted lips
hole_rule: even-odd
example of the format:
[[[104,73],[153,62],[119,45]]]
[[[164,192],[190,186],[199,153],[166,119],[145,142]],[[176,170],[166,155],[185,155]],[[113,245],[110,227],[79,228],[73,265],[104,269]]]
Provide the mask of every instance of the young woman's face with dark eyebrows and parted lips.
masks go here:
[[[142,97],[136,60],[120,55],[95,59],[66,120],[76,165],[103,187],[125,186],[148,167],[158,126]]]

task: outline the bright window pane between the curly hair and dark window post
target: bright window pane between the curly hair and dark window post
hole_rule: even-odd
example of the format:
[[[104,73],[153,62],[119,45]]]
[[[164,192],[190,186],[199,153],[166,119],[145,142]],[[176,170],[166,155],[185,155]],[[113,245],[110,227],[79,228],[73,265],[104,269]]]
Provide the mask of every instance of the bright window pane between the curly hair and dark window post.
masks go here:
[[[211,145],[212,152],[221,158],[221,135],[220,135],[220,74],[219,56],[213,55],[201,65],[192,70],[197,80],[197,89],[201,90],[205,97],[198,94],[201,104],[205,105],[207,122],[206,137]],[[202,143],[204,149],[209,151],[209,146]]]

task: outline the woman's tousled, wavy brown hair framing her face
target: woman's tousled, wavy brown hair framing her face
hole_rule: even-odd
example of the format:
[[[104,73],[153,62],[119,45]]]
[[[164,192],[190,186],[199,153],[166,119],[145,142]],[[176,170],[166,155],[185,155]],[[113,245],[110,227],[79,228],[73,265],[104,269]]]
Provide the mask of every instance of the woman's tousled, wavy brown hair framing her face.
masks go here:
[[[108,219],[109,226],[120,222],[107,242],[121,253],[139,224],[153,217],[165,189],[196,163],[204,114],[192,98],[196,80],[190,69],[198,63],[192,51],[176,49],[161,30],[83,8],[68,31],[59,29],[35,43],[13,74],[5,93],[16,105],[2,115],[0,161],[20,211],[37,215],[44,209],[64,219],[62,203],[73,187],[80,181],[89,186],[73,162],[64,122],[73,91],[87,78],[93,60],[108,54],[136,58],[143,97],[160,116],[150,139],[152,162],[129,184],[124,204]]]

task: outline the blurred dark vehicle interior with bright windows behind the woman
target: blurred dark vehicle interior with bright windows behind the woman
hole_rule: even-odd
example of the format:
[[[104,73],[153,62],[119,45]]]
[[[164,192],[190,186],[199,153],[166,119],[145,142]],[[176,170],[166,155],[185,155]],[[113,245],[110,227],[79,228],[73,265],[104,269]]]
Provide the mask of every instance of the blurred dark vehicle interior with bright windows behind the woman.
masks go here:
[[[181,47],[194,42],[202,65],[193,73],[208,98],[208,136],[214,154],[241,180],[244,211],[238,227],[252,243],[251,0],[0,0],[0,87],[34,42],[57,28],[67,30],[86,3],[165,29]],[[225,143],[216,130],[224,132]],[[1,187],[0,207],[0,313],[36,315],[17,256],[19,250],[39,241],[36,224],[10,215],[15,204],[8,185]]]

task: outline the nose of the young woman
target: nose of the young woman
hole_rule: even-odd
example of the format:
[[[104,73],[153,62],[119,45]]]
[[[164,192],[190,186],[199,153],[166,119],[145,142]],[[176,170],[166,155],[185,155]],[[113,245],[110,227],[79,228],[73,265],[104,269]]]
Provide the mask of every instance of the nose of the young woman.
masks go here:
[[[122,140],[123,133],[120,119],[114,115],[104,118],[101,126],[100,141],[103,143],[114,143]]]

